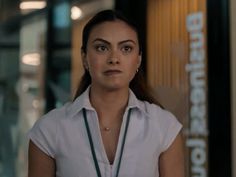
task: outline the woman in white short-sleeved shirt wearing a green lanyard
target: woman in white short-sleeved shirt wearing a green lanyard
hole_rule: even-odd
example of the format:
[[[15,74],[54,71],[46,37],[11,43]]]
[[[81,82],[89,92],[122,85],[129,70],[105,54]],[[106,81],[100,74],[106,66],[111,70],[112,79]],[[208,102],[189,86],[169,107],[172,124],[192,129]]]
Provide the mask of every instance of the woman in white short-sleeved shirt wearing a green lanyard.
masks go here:
[[[136,26],[105,10],[82,42],[75,100],[29,132],[29,177],[184,177],[182,126],[141,79]]]

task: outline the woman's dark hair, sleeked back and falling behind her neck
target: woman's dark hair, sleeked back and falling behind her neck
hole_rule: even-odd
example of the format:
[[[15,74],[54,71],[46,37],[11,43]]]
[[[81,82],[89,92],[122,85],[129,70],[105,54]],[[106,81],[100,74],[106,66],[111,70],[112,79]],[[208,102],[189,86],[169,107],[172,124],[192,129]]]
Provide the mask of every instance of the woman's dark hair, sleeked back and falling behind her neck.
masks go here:
[[[92,29],[107,21],[115,21],[115,20],[121,20],[125,22],[127,25],[129,25],[136,33],[139,43],[139,54],[142,54],[142,45],[141,45],[141,37],[140,33],[138,31],[137,25],[131,21],[130,19],[126,18],[121,12],[114,11],[114,10],[103,10],[99,13],[97,13],[92,19],[89,20],[89,22],[85,25],[82,33],[82,47],[81,50],[86,54],[87,52],[87,42],[89,39],[89,35],[92,31]],[[79,83],[79,87],[76,91],[74,99],[76,99],[79,95],[81,95],[87,87],[91,84],[91,77],[87,70],[85,70],[81,81]],[[148,88],[142,71],[139,70],[136,75],[134,76],[133,80],[130,82],[130,89],[134,92],[134,94],[137,96],[140,100],[145,100],[150,103],[155,103],[159,106],[159,102],[155,99],[154,96],[151,95],[150,88]],[[161,106],[162,107],[162,106]]]

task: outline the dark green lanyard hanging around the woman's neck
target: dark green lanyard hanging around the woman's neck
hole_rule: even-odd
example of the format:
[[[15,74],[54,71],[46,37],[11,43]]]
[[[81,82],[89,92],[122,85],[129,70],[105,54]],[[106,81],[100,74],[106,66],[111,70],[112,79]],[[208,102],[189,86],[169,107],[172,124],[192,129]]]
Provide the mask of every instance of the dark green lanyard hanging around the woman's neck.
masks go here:
[[[118,161],[116,177],[118,177],[119,171],[120,171],[121,159],[122,159],[122,155],[123,155],[123,151],[124,151],[125,140],[126,140],[126,136],[127,136],[129,122],[130,122],[130,114],[131,114],[131,109],[129,109],[126,124],[125,124],[125,132],[124,132],[124,136],[123,136],[123,139],[122,139],[121,152],[120,152],[120,157],[119,157],[119,161]],[[83,108],[83,116],[84,116],[84,123],[85,123],[87,134],[88,134],[88,139],[89,139],[89,143],[90,143],[90,148],[91,148],[91,152],[92,152],[93,161],[94,161],[94,165],[95,165],[95,168],[96,168],[97,176],[102,177],[101,171],[100,171],[100,168],[99,168],[99,165],[98,165],[97,156],[96,156],[96,153],[95,153],[95,150],[94,150],[93,140],[92,140],[91,132],[90,132],[89,125],[88,125],[88,120],[87,120],[87,115],[86,115],[85,108]]]

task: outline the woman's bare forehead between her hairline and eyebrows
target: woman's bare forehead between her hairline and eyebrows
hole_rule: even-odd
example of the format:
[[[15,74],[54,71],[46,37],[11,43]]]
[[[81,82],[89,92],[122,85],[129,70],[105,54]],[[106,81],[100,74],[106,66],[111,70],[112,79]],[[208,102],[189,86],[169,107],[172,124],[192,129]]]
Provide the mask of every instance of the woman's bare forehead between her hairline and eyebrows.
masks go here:
[[[105,38],[107,40],[137,41],[137,32],[127,23],[121,20],[106,21],[96,25],[90,32],[89,40]]]

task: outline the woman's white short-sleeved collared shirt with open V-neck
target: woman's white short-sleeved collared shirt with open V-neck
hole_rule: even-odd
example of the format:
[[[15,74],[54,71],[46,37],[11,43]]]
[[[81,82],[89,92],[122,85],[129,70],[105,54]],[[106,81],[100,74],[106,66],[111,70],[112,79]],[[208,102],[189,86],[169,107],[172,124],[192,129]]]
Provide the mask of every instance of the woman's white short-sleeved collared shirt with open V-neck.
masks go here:
[[[57,177],[97,177],[83,119],[83,108],[87,112],[102,177],[115,177],[129,109],[132,111],[119,177],[159,177],[159,156],[174,141],[182,125],[170,112],[155,104],[138,100],[130,90],[115,160],[110,165],[102,142],[97,113],[89,101],[89,88],[74,102],[54,109],[40,118],[28,132],[28,137],[34,144],[56,160]]]

